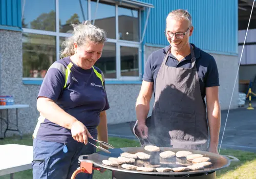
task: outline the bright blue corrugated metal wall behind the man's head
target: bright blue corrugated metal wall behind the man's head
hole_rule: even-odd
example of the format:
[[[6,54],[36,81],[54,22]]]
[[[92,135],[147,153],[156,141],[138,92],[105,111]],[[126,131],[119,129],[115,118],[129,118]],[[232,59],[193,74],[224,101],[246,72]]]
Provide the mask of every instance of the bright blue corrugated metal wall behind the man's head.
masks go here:
[[[217,53],[238,53],[238,0],[140,0],[155,6],[151,9],[145,43],[166,46],[165,18],[175,9],[186,9],[193,18],[194,32],[190,42],[199,48]],[[142,12],[143,22],[146,11]]]

